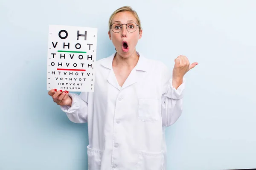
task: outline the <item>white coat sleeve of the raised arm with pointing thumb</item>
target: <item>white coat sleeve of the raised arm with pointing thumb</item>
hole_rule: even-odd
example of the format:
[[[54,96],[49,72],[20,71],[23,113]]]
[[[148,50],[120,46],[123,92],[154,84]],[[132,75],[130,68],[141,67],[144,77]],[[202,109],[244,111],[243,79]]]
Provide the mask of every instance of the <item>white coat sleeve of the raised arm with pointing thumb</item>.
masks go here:
[[[185,88],[185,79],[183,78],[182,84],[175,89],[172,86],[171,72],[163,65],[162,73],[162,102],[161,102],[161,115],[163,126],[170,126],[174,124],[180,117],[183,110],[183,91]]]

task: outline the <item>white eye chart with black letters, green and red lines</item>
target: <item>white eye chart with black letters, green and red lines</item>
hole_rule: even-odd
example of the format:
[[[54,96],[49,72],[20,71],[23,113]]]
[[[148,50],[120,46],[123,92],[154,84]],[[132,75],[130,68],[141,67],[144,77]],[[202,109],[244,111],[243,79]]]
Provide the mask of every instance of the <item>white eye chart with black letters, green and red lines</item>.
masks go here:
[[[47,90],[94,91],[97,28],[49,26]]]

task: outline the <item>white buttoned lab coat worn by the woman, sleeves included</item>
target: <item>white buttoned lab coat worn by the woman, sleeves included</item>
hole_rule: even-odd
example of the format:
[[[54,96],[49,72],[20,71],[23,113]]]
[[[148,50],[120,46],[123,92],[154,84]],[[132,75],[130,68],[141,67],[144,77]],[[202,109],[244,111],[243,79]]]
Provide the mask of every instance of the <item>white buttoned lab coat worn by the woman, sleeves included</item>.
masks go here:
[[[94,92],[61,106],[70,121],[88,123],[88,170],[165,170],[165,127],[182,112],[185,79],[172,87],[171,71],[140,53],[136,67],[119,86],[112,68],[115,55],[96,62]]]

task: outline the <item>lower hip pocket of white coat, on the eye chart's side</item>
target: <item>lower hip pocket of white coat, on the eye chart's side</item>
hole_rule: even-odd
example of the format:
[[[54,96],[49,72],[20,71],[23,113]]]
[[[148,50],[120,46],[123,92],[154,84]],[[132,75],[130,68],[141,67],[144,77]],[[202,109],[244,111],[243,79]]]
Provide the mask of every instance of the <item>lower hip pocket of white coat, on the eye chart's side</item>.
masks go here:
[[[100,170],[101,166],[101,150],[92,149],[87,146],[88,170]]]

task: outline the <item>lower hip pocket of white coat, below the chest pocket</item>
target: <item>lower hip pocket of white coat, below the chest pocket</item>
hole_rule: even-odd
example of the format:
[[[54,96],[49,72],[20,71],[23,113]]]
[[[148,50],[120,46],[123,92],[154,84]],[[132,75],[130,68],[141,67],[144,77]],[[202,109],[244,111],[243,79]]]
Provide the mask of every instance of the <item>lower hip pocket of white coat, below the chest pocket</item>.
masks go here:
[[[163,163],[163,151],[159,153],[140,151],[136,170],[163,170]]]

